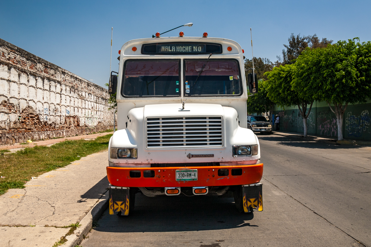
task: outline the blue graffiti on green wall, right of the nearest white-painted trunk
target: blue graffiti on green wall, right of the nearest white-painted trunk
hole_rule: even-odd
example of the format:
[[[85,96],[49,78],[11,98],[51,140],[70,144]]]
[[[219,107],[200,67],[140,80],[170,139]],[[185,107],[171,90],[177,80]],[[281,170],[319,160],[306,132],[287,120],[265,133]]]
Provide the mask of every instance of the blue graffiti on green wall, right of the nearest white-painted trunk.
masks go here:
[[[345,130],[348,131],[349,136],[360,137],[363,133],[370,133],[371,119],[368,116],[368,110],[362,111],[361,115],[352,115],[348,112],[345,120]]]

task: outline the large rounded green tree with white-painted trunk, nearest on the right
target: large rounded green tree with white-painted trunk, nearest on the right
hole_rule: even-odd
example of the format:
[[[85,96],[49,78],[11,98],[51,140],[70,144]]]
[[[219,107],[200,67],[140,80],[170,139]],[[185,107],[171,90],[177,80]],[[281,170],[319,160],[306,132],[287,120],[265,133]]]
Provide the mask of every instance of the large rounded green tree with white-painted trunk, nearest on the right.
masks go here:
[[[371,43],[355,43],[356,39],[330,44],[313,63],[317,95],[336,115],[338,140],[343,140],[343,116],[348,104],[364,103],[371,97]]]

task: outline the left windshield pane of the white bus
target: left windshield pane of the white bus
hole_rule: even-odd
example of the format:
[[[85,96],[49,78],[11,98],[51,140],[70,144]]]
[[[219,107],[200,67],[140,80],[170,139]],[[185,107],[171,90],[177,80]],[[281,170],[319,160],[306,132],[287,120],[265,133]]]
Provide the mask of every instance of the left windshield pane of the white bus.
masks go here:
[[[129,60],[122,94],[131,97],[180,96],[179,60]]]

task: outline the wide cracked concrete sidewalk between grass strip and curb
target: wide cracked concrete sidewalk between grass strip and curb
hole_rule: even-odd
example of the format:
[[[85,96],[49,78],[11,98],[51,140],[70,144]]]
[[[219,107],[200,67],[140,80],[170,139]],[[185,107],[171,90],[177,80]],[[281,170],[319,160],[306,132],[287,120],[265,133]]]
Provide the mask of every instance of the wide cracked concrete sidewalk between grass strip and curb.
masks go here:
[[[108,151],[91,154],[1,195],[0,246],[53,246],[70,230],[60,227],[80,222],[104,199],[107,164]]]

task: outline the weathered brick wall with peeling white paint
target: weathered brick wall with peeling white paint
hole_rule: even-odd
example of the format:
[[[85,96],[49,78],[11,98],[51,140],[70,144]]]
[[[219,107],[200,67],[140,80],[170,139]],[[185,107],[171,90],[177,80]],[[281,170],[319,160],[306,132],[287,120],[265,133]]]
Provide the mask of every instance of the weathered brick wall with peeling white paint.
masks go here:
[[[108,91],[0,39],[0,145],[113,128]]]

